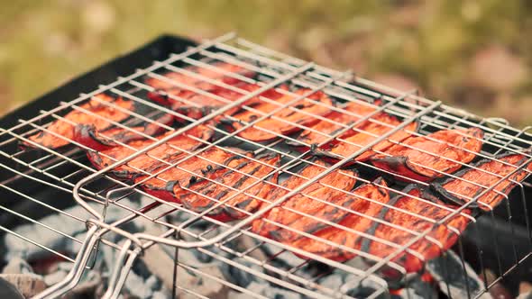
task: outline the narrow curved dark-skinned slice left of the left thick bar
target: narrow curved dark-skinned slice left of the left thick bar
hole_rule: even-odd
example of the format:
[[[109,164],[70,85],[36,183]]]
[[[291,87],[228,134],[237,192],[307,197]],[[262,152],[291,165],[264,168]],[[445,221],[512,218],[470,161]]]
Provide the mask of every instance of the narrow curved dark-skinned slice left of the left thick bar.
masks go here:
[[[143,126],[125,129],[115,127],[103,133],[96,130],[93,124],[78,124],[74,129],[74,140],[86,147],[98,151],[121,146],[134,140],[147,140],[145,136],[155,137],[165,131],[161,125],[170,126],[173,116],[166,114],[157,122],[145,122]],[[102,136],[104,135],[104,136]]]

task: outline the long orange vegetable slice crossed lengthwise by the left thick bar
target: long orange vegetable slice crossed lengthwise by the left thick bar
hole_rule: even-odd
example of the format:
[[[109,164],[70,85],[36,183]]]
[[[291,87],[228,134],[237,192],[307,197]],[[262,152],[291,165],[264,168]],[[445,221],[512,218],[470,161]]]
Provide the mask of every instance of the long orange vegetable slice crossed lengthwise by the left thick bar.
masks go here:
[[[142,170],[150,169],[154,165],[157,165],[159,159],[172,161],[181,155],[184,151],[195,150],[202,145],[202,140],[209,140],[213,136],[213,130],[209,129],[205,125],[197,125],[196,127],[179,134],[166,143],[149,150],[147,153],[142,154],[126,164],[113,169],[111,172],[116,177],[131,178],[135,175],[142,174]],[[174,131],[168,131],[167,133],[158,137],[162,139]],[[102,151],[87,151],[88,159],[97,168],[105,168],[112,165],[116,161],[127,158],[133,155],[138,150],[144,149],[150,146],[154,140],[133,140],[127,143],[127,146],[115,146],[110,149]]]

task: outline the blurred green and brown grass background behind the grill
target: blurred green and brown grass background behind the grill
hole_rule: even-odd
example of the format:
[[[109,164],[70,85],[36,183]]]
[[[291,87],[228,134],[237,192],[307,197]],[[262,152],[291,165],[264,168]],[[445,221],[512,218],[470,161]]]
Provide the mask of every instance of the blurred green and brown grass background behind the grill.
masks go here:
[[[302,59],[532,123],[532,1],[0,0],[0,113],[161,33],[235,31]]]

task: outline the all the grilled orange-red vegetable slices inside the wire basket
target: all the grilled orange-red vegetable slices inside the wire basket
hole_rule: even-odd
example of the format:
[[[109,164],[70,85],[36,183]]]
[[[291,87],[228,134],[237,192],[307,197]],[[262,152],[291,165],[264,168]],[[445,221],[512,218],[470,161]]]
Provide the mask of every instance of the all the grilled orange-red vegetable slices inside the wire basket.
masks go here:
[[[155,121],[131,122],[140,113],[133,100],[95,95],[21,145],[82,147],[94,168],[217,221],[262,211],[250,230],[302,249],[301,258],[389,258],[407,272],[450,249],[472,215],[491,211],[532,173],[529,150],[493,157],[482,150],[481,129],[421,134],[422,122],[404,123],[382,100],[345,103],[295,86],[264,90],[257,76],[227,63],[151,74],[147,96],[167,112]],[[235,101],[242,104],[175,134]],[[213,144],[216,131],[239,143]],[[280,151],[261,147],[272,140],[302,159],[285,168]],[[239,148],[245,142],[260,149]]]

